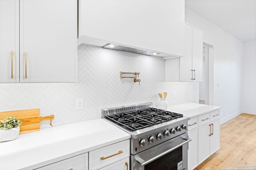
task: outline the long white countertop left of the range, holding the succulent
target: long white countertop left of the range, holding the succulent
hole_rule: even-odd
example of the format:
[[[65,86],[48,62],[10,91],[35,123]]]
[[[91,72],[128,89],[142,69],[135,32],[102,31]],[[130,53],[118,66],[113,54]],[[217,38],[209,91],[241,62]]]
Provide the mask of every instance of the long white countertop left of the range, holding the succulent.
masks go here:
[[[0,143],[1,169],[34,169],[130,139],[103,119],[41,129]]]

